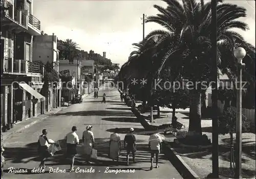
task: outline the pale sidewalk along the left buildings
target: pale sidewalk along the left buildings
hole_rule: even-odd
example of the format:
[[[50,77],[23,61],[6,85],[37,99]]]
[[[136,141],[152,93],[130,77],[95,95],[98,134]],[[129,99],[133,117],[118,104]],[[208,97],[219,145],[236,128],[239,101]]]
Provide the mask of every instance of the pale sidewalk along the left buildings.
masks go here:
[[[7,131],[5,133],[2,133],[3,134],[3,140],[8,139],[9,137],[11,137],[11,135],[13,135],[15,133],[18,133],[20,131],[23,131],[27,127],[30,127],[31,125],[35,124],[36,122],[38,122],[40,120],[43,120],[43,119],[46,119],[49,116],[52,116],[52,115],[58,113],[59,111],[61,111],[63,109],[66,109],[66,108],[68,108],[68,107],[54,108],[51,111],[46,112],[45,114],[41,114],[41,115],[38,115],[37,117],[32,117],[32,118],[29,118],[27,120],[18,122],[17,124],[14,124],[12,129],[10,129],[9,131]]]

